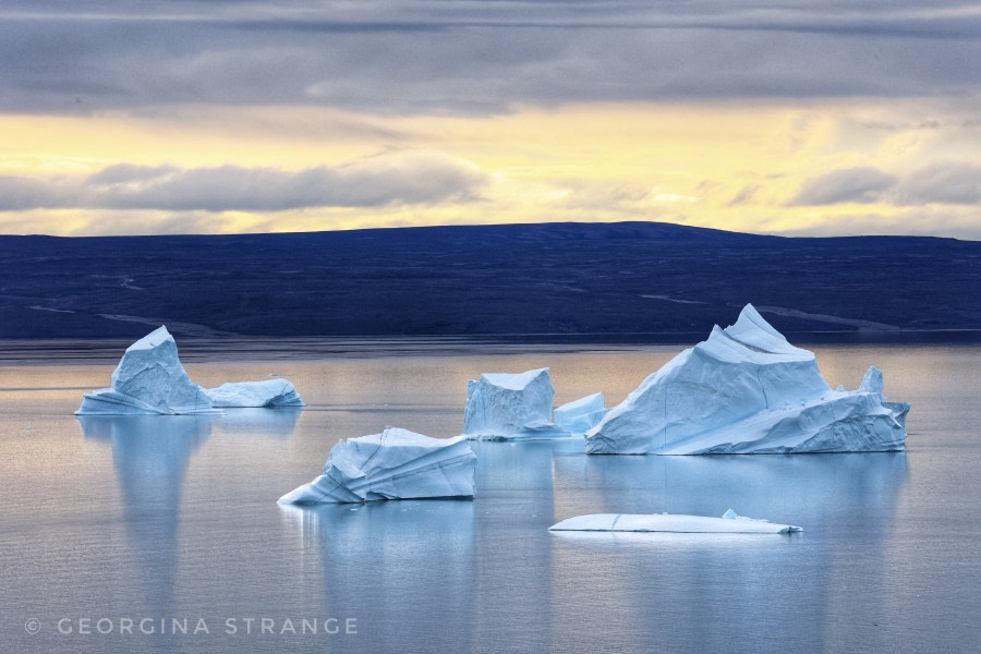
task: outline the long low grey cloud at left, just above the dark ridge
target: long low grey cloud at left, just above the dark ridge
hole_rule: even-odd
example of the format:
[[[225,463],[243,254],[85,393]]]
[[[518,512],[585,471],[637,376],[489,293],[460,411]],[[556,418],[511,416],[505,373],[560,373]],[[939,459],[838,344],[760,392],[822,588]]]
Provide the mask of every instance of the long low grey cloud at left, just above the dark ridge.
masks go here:
[[[389,153],[344,166],[275,168],[110,166],[47,180],[0,177],[0,210],[37,208],[283,211],[470,202],[486,175],[438,153]]]

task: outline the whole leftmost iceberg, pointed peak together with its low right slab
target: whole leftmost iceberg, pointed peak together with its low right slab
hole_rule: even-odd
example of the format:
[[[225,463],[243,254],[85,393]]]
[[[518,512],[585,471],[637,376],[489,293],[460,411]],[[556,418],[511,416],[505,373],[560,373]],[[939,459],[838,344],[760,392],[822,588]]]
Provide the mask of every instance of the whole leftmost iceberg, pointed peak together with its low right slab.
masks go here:
[[[233,407],[303,407],[286,379],[222,384],[206,389],[191,382],[177,342],[159,327],[126,348],[111,386],[84,393],[75,415],[221,413]]]

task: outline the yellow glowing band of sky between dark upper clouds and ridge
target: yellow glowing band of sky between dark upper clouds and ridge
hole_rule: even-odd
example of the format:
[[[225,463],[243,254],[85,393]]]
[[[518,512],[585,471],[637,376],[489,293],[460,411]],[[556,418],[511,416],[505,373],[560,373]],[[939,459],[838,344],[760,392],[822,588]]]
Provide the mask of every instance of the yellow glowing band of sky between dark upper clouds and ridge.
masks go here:
[[[977,152],[977,121],[925,100],[590,104],[481,117],[365,118],[296,107],[180,107],[147,118],[0,116],[2,189],[14,198],[0,211],[0,232],[664,220],[765,233],[964,235],[979,229],[973,206],[923,180],[970,174]],[[419,161],[434,161],[432,170]],[[272,197],[250,209],[209,199],[207,178],[194,186],[202,206],[159,193],[138,206],[113,204],[92,191],[87,177],[119,165],[168,166],[168,174],[245,169],[237,174],[249,196],[268,174],[289,190],[292,174],[323,168],[326,177],[312,183],[376,184],[380,198],[372,189],[355,189],[353,201],[349,189],[315,189],[323,199],[280,207]],[[440,195],[433,170],[444,168],[462,171],[473,187]],[[148,182],[128,183],[132,191]],[[61,199],[35,206],[23,199],[25,184],[35,189],[32,198]],[[386,184],[393,184],[390,196]],[[921,229],[925,218],[930,227]]]

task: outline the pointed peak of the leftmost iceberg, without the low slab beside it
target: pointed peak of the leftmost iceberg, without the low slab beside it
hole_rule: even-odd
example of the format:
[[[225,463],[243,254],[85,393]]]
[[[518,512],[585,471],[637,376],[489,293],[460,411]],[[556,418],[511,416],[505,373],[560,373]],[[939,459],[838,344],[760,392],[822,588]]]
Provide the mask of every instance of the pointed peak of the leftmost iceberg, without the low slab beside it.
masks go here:
[[[215,413],[207,391],[191,382],[167,327],[126,348],[112,385],[83,396],[75,415]]]

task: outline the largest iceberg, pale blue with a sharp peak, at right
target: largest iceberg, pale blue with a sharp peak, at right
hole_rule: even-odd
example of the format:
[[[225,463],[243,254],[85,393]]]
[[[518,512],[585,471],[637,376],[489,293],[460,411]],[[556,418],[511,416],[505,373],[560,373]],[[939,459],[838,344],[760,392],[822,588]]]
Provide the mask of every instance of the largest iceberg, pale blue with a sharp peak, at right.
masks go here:
[[[888,402],[872,367],[832,390],[814,353],[747,304],[735,325],[649,376],[586,435],[593,455],[713,455],[905,449],[909,404]]]

